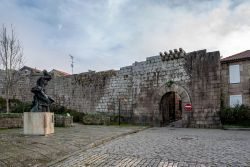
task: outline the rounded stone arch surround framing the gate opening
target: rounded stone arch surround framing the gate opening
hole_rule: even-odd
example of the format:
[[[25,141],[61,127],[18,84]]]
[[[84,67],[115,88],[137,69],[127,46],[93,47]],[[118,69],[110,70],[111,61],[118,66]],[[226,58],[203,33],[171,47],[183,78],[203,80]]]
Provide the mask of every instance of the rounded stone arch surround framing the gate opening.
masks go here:
[[[162,121],[162,113],[160,111],[160,102],[162,97],[168,93],[168,92],[175,92],[177,93],[182,101],[182,123],[183,126],[186,126],[188,124],[188,115],[192,111],[185,111],[184,106],[185,104],[190,104],[191,103],[191,98],[188,93],[188,91],[183,87],[178,84],[172,84],[171,86],[166,86],[163,85],[161,86],[158,90],[156,90],[154,94],[154,110],[155,110],[155,125],[160,125],[160,122]]]

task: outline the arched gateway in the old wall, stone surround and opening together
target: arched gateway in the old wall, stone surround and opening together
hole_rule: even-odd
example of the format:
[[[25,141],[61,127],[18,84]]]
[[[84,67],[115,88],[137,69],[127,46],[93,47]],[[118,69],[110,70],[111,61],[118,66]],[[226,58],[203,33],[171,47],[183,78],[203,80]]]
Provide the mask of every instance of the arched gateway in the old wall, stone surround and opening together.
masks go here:
[[[163,85],[154,95],[155,106],[158,113],[160,126],[168,125],[171,122],[182,120],[184,126],[188,123],[188,112],[184,109],[186,104],[191,104],[188,91],[180,85],[172,84],[171,86]]]

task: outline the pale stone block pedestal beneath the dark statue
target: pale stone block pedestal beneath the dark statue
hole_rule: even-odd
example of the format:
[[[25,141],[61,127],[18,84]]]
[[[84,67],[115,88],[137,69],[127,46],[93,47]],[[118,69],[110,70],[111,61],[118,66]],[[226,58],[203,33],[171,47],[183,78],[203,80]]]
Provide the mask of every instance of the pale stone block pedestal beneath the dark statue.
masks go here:
[[[54,133],[54,113],[24,112],[23,130],[25,135],[47,135]]]

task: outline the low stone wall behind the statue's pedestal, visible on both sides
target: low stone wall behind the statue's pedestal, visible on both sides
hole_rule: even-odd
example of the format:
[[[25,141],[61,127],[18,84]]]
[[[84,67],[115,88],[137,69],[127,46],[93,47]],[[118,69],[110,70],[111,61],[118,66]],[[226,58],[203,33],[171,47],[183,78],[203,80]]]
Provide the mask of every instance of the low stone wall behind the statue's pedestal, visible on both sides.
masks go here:
[[[56,127],[71,127],[73,125],[73,116],[55,115]],[[22,128],[23,114],[10,113],[0,114],[0,128]]]

